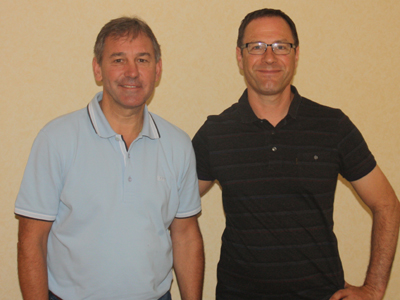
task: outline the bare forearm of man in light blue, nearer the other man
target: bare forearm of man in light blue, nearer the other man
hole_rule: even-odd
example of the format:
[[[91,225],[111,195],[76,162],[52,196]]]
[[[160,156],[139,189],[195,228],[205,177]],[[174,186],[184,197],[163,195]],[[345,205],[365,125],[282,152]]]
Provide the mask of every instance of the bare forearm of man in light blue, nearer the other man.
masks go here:
[[[175,218],[170,227],[174,269],[182,300],[200,300],[203,293],[204,248],[197,216]]]

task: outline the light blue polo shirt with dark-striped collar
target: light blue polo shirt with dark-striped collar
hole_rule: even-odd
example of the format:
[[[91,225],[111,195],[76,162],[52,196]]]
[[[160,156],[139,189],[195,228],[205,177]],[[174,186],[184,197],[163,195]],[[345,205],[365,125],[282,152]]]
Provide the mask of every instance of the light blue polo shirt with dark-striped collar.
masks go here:
[[[15,213],[54,221],[47,262],[59,297],[158,299],[172,280],[168,228],[201,210],[192,144],[146,106],[127,150],[101,99],[39,132]]]

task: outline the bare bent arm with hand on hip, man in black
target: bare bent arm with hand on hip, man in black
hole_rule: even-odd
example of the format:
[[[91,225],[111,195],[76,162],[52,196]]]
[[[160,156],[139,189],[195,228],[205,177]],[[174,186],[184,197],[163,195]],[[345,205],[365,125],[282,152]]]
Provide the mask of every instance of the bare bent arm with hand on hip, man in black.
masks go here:
[[[347,284],[331,300],[382,299],[396,252],[400,225],[399,200],[378,166],[351,184],[373,214],[371,257],[364,285],[354,287]]]

